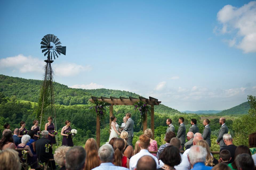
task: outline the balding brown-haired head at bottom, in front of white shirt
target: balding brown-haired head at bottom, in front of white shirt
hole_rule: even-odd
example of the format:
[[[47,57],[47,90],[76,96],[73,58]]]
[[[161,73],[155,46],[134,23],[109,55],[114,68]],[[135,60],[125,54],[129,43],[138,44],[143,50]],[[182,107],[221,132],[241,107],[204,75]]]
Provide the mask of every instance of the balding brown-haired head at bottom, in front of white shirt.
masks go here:
[[[142,156],[138,162],[136,170],[155,170],[157,169],[157,164],[155,160],[148,155]]]

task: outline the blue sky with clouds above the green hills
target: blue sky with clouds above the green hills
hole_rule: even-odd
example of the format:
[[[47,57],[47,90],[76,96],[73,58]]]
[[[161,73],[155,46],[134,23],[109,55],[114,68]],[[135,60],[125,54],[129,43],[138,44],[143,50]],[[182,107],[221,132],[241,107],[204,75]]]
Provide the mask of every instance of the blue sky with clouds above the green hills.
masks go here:
[[[256,1],[1,1],[0,74],[43,79],[41,39],[66,56],[55,82],[149,96],[179,111],[256,95]]]

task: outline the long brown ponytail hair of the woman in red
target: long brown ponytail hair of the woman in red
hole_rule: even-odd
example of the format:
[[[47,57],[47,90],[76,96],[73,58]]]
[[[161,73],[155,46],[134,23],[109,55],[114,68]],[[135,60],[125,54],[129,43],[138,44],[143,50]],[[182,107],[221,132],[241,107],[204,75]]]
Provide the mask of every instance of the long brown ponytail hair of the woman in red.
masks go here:
[[[117,138],[114,142],[114,151],[115,151],[115,159],[114,159],[114,165],[116,166],[122,166],[122,151],[125,147],[125,142],[121,138]]]

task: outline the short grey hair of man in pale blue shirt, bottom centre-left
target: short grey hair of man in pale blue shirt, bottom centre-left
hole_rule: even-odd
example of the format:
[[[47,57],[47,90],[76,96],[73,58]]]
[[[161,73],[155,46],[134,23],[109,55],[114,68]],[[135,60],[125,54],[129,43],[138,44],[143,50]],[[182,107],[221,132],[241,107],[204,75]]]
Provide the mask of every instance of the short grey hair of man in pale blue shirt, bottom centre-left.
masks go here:
[[[114,160],[114,149],[110,144],[102,145],[99,148],[98,156],[101,162],[113,162]]]

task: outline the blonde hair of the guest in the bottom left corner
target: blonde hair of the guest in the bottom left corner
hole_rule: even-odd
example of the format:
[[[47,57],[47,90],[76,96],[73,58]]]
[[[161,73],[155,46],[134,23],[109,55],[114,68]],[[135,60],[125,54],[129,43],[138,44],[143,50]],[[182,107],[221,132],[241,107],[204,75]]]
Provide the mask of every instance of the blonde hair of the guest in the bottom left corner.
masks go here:
[[[0,170],[21,169],[19,163],[19,153],[13,149],[6,149],[0,152],[1,166]]]

